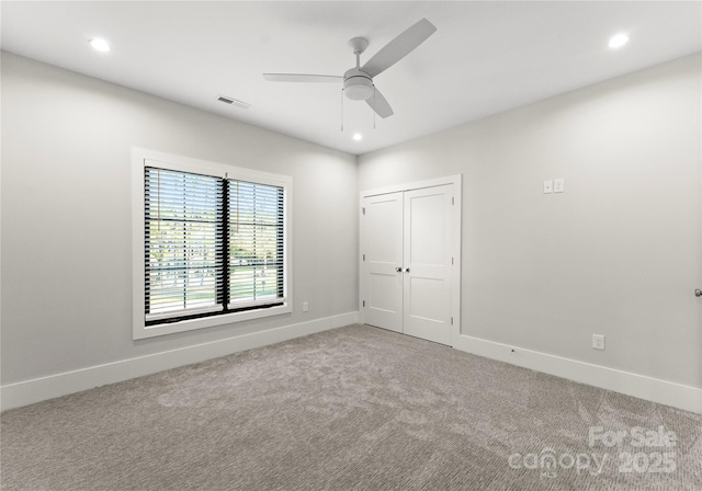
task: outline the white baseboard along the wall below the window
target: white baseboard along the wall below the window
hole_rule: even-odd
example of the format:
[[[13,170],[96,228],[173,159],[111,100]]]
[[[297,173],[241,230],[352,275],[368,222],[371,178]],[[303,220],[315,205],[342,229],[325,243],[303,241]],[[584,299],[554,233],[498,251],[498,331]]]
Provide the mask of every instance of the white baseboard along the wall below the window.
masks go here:
[[[231,353],[275,344],[316,332],[356,323],[359,312],[316,319],[251,334],[195,344],[136,358],[122,359],[72,372],[49,375],[0,387],[2,411],[41,402],[94,387],[143,377],[192,363],[226,356]]]

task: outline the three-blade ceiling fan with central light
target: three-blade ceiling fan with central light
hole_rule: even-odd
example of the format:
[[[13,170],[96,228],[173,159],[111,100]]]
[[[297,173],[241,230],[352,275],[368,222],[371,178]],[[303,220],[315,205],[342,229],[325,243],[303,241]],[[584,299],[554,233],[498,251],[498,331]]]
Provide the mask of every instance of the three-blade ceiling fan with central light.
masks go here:
[[[305,73],[263,73],[271,82],[343,82],[343,93],[353,101],[365,101],[375,113],[385,118],[393,115],[393,109],[383,94],[375,88],[373,78],[387,70],[409,55],[437,31],[427,19],[422,19],[387,43],[361,67],[361,54],[369,47],[365,37],[354,37],[349,46],[355,55],[355,68],[343,76]]]

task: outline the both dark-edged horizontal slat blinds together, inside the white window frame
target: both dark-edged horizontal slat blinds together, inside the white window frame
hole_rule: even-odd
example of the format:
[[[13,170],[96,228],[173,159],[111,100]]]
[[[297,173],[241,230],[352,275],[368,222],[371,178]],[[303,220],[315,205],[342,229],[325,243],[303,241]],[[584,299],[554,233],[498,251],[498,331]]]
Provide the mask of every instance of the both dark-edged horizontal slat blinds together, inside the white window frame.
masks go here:
[[[147,326],[285,301],[284,187],[144,172]]]

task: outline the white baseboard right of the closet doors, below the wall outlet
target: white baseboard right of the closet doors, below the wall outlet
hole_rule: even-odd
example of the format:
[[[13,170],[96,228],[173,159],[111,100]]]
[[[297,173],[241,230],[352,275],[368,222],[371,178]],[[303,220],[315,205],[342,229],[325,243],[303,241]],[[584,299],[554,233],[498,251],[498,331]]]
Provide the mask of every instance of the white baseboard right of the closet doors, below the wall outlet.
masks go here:
[[[456,350],[702,414],[702,389],[468,335]],[[514,350],[514,352],[512,352]]]

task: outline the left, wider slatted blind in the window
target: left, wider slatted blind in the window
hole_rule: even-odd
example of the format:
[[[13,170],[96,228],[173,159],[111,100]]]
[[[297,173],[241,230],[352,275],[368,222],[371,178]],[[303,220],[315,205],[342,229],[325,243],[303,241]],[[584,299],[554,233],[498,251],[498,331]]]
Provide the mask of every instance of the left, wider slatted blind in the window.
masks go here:
[[[223,309],[223,181],[145,168],[146,319]]]

